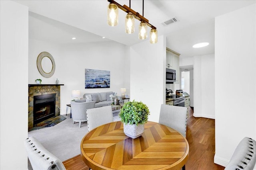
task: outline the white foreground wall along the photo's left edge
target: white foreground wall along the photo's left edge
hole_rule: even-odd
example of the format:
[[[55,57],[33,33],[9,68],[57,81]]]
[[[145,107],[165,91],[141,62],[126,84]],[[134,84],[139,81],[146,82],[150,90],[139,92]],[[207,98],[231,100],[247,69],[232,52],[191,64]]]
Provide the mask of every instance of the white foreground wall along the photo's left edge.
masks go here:
[[[0,169],[25,170],[28,159],[28,7],[0,1]]]

